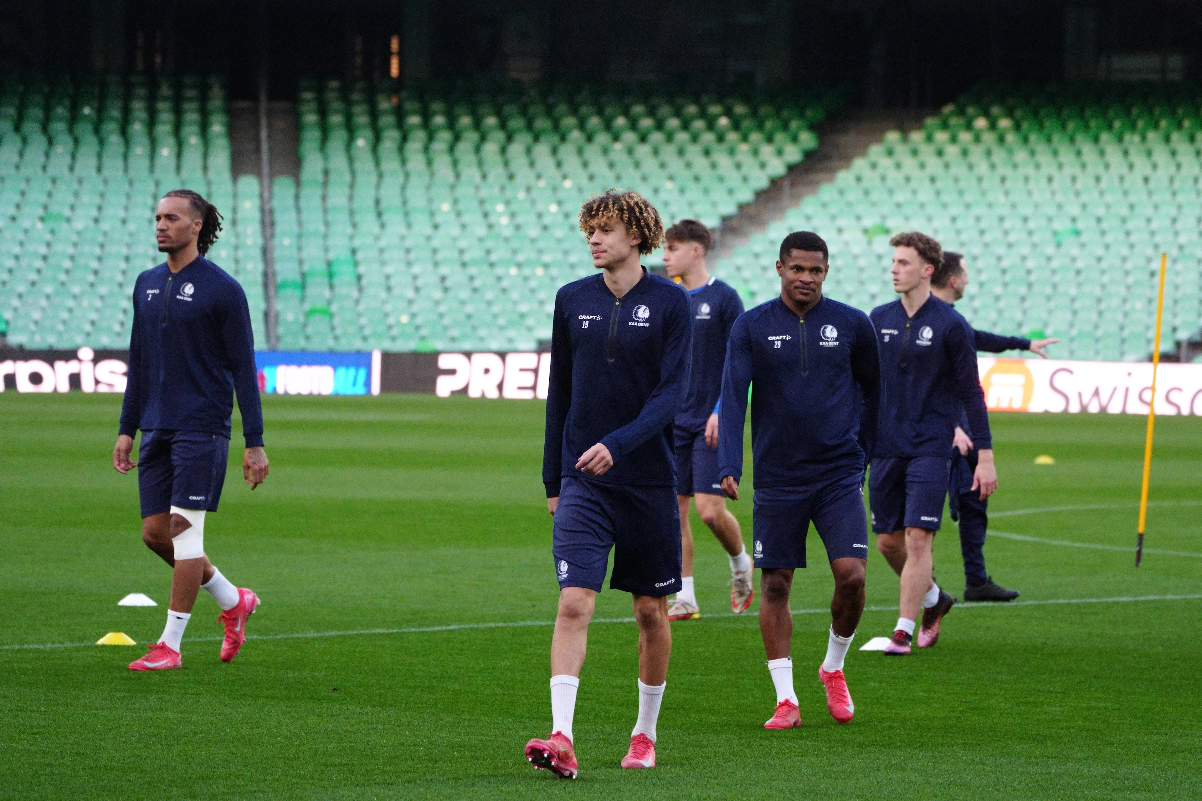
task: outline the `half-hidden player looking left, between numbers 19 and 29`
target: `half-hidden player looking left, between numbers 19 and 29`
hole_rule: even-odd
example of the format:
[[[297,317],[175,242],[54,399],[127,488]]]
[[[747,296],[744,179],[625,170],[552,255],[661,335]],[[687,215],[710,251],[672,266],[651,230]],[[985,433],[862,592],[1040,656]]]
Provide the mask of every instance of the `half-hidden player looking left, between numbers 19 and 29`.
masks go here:
[[[701,617],[692,585],[692,528],[689,502],[709,526],[731,562],[731,611],[746,611],[755,597],[751,585],[751,557],[743,546],[739,521],[726,508],[726,496],[718,477],[718,410],[722,393],[722,363],[731,325],[743,313],[743,300],[728,283],[709,274],[706,253],[714,235],[696,220],[682,220],[664,238],[664,268],[689,292],[692,316],[692,369],[689,395],[677,414],[677,501],[680,504],[683,575],[680,592],[668,605],[668,620]]]

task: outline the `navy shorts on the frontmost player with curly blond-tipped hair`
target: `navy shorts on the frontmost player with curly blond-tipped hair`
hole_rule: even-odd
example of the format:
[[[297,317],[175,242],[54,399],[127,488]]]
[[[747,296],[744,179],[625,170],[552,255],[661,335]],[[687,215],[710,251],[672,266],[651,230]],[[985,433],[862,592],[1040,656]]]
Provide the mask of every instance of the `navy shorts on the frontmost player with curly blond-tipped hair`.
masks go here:
[[[565,476],[551,554],[559,588],[609,588],[656,598],[680,588],[680,510],[673,486],[601,484]]]

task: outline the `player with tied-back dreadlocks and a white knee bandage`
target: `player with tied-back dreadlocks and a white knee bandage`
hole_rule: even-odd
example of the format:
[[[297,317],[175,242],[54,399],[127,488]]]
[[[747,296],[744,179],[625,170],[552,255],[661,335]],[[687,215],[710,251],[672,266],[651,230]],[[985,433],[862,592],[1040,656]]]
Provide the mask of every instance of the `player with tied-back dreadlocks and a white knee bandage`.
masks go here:
[[[239,590],[204,554],[204,518],[218,510],[238,395],[246,450],[243,478],[267,478],[263,412],[246,294],[204,258],[221,231],[216,208],[191,190],[167,192],[155,237],[167,261],[133,283],[133,325],[121,422],[113,448],[119,473],[138,468],[142,542],[172,566],[167,626],[130,670],[183,666],[180,640],[201,587],[221,606],[221,660],[237,656],[258,597]],[[142,430],[138,461],[130,459]]]

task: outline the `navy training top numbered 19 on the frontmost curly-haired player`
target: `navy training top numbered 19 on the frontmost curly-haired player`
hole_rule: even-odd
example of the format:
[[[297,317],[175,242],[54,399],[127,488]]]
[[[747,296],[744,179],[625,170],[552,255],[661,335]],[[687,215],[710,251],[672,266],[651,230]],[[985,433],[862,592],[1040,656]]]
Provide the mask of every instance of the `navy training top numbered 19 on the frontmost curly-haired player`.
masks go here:
[[[621,298],[603,275],[560,287],[551,329],[542,480],[676,486],[672,420],[689,390],[692,321],[685,291],[643,270]],[[596,443],[613,456],[603,476],[576,461]]]

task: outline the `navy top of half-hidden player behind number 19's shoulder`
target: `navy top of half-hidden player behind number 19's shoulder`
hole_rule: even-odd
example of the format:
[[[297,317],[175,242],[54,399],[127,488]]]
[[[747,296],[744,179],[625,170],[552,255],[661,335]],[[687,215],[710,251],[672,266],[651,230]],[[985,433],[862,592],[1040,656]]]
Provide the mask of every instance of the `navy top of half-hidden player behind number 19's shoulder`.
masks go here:
[[[718,279],[689,289],[692,310],[692,369],[689,371],[689,395],[677,414],[679,425],[703,423],[716,412],[722,394],[722,364],[731,327],[743,313],[743,299],[728,283]]]

